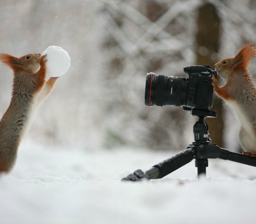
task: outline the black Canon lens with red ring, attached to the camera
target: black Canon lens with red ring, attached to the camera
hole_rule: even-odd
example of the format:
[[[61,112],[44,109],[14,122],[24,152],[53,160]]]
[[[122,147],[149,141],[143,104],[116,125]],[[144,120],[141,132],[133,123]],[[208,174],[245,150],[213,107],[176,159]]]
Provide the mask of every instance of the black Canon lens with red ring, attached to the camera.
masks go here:
[[[145,89],[146,106],[185,106],[188,79],[147,73]]]

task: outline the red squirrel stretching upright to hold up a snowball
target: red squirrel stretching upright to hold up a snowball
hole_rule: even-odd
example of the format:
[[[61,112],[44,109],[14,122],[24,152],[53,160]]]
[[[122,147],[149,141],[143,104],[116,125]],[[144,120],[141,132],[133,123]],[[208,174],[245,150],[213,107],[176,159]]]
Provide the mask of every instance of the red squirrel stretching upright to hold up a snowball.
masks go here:
[[[0,172],[9,172],[14,167],[20,140],[28,129],[33,111],[59,78],[45,82],[45,57],[39,53],[20,58],[0,54],[0,61],[14,72],[10,105],[0,120]]]

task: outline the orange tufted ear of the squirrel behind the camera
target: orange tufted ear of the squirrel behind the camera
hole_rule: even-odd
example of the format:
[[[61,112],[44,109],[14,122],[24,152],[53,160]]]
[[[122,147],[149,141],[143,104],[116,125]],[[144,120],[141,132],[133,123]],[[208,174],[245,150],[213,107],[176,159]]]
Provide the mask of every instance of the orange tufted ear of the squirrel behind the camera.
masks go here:
[[[237,68],[247,68],[250,64],[251,59],[256,55],[256,46],[249,43],[241,49],[241,51],[234,58]]]

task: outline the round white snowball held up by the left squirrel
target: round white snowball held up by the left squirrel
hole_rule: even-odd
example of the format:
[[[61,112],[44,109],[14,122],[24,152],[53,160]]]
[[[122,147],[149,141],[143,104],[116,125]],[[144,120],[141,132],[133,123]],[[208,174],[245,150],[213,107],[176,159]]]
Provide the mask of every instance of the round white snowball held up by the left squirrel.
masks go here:
[[[46,73],[50,77],[59,77],[62,76],[69,69],[70,57],[68,53],[62,48],[58,46],[49,46],[43,52],[42,55],[46,56]]]

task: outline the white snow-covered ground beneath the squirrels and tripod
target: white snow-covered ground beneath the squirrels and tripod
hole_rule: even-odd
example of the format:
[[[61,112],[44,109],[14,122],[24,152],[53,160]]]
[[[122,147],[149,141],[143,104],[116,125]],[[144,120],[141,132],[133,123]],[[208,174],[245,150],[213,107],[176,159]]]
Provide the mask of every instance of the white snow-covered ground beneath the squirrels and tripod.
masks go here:
[[[159,180],[120,181],[172,155],[24,142],[0,178],[1,223],[255,223],[255,167],[211,159],[205,180],[192,161]]]

